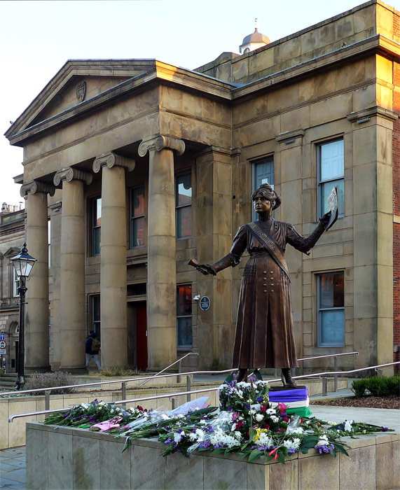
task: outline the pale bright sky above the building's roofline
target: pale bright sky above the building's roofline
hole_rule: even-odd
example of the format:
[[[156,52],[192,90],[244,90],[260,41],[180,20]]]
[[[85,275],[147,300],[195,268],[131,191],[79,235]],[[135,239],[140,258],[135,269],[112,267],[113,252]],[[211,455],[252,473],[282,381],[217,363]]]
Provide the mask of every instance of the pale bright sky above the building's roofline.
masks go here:
[[[22,202],[13,176],[22,148],[4,132],[68,59],[156,58],[195,69],[239,53],[258,30],[270,41],[364,3],[360,0],[0,1],[0,204]],[[387,3],[400,8],[400,0]]]

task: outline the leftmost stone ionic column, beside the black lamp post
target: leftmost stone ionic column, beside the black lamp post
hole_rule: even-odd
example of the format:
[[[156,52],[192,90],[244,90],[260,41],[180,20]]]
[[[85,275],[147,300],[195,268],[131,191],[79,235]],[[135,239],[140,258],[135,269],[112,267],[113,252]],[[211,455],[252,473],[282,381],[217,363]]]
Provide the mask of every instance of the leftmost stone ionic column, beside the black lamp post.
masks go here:
[[[55,189],[41,182],[21,187],[27,200],[27,247],[37,259],[27,281],[25,307],[25,367],[28,370],[47,370],[49,366],[48,310],[48,210],[47,194]]]

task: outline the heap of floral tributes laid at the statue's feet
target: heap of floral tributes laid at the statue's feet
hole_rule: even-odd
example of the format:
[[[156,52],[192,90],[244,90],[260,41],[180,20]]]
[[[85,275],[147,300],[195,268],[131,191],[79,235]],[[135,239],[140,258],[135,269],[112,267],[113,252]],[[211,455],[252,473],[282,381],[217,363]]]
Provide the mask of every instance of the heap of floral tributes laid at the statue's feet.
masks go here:
[[[345,420],[324,421],[312,416],[288,413],[283,402],[272,406],[267,381],[249,377],[237,383],[235,377],[219,386],[220,407],[208,407],[207,397],[187,402],[174,410],[142,407],[123,409],[97,400],[52,414],[46,424],[74,426],[125,437],[124,451],[131,440],[158,437],[165,444],[163,456],[181,451],[235,453],[249,461],[263,458],[284,463],[301,451],[317,449],[319,454],[347,454],[341,437],[372,435],[386,427]],[[275,404],[274,404],[275,405]],[[348,454],[347,454],[348,456]]]

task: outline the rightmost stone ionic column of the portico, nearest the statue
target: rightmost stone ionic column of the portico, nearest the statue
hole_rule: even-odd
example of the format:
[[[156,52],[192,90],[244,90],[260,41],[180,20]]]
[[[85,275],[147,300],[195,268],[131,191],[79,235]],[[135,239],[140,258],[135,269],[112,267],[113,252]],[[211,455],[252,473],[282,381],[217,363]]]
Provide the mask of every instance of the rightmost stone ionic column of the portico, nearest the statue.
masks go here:
[[[143,140],[139,155],[149,151],[147,342],[149,367],[177,360],[177,279],[175,262],[174,151],[184,141],[159,136]]]

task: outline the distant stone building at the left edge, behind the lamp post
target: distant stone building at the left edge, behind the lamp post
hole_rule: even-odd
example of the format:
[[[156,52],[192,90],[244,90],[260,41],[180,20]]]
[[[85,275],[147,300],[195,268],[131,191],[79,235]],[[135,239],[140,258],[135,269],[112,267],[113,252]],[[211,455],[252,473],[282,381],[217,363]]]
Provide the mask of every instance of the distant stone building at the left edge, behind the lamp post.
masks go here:
[[[20,299],[11,257],[17,255],[25,240],[25,209],[4,203],[0,212],[0,332],[6,348],[0,353],[0,367],[15,372],[18,365]]]

